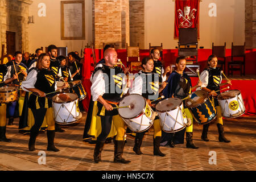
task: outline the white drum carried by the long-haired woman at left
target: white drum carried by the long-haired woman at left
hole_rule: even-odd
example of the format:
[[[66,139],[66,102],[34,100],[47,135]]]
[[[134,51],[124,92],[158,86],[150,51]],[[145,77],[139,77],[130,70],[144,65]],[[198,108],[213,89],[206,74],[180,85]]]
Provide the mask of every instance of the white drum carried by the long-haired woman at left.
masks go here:
[[[81,118],[78,97],[74,93],[60,93],[52,97],[53,116],[60,125],[75,123]]]

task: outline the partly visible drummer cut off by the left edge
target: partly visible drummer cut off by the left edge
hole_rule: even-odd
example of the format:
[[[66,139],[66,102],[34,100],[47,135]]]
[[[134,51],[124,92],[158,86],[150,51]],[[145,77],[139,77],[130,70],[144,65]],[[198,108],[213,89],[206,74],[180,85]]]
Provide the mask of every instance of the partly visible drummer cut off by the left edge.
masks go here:
[[[0,65],[0,87],[5,86],[9,82],[18,78],[16,73],[13,74],[13,77],[4,81],[4,77],[7,73],[6,64]],[[6,138],[6,104],[0,103],[0,141],[2,142],[10,142],[11,139]]]

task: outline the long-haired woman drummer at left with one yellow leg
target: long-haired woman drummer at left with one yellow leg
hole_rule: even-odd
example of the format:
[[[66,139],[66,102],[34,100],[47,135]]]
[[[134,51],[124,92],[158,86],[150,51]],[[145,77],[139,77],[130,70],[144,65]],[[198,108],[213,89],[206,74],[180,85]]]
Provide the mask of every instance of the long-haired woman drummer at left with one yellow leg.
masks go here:
[[[22,82],[22,89],[27,92],[33,92],[28,100],[28,107],[31,109],[35,124],[31,127],[30,140],[28,142],[28,149],[30,151],[35,150],[35,140],[39,133],[39,129],[43,123],[44,117],[46,117],[46,122],[48,125],[47,129],[47,139],[48,139],[48,151],[59,151],[54,145],[55,137],[55,122],[53,118],[52,101],[49,99],[51,94],[55,90],[67,88],[68,84],[64,86],[57,87],[55,81],[55,75],[49,70],[50,57],[48,53],[42,53],[38,57],[38,63],[36,68],[32,70],[28,76],[27,80]],[[46,97],[46,94],[48,96]]]

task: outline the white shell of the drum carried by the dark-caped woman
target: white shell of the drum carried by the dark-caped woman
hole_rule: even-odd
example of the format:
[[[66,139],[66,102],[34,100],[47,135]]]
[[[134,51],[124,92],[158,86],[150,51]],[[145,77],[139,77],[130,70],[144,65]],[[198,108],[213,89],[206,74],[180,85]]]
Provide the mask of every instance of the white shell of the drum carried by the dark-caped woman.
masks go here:
[[[162,130],[166,133],[174,133],[183,130],[187,126],[187,117],[184,114],[183,103],[177,106],[176,109],[169,111],[159,111],[158,117],[160,120],[160,126]]]

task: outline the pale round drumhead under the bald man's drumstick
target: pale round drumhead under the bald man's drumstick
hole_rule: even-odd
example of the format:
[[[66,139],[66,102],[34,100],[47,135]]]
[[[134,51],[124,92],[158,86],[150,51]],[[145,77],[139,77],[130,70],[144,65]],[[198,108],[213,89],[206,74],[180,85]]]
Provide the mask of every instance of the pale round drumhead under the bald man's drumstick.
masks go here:
[[[118,109],[119,115],[126,119],[134,118],[141,114],[143,109],[146,107],[146,101],[139,94],[130,94],[129,96],[123,98],[123,100],[119,103],[119,107],[128,105],[130,105],[131,108],[127,107]]]

